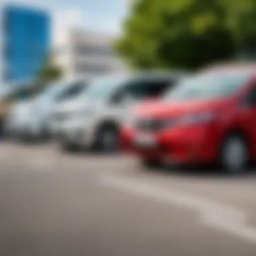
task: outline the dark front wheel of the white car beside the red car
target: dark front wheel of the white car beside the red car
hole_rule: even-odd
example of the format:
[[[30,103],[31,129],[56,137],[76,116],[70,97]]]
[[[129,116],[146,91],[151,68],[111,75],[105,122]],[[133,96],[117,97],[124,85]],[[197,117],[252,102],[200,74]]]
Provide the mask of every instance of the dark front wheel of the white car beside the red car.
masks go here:
[[[119,130],[114,125],[101,127],[96,134],[94,149],[100,152],[117,152],[119,149]]]

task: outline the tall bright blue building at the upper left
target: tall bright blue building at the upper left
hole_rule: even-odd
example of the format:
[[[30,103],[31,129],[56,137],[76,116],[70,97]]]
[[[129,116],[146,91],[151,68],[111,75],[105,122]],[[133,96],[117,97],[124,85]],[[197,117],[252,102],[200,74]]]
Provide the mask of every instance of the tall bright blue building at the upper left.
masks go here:
[[[13,86],[32,81],[50,50],[49,14],[20,5],[0,11],[0,82]]]

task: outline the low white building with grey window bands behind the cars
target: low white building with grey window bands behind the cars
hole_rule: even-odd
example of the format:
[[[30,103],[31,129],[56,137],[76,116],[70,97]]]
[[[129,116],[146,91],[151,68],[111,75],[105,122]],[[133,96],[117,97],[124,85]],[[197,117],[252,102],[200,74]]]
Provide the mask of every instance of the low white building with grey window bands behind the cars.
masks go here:
[[[91,78],[125,71],[113,51],[113,36],[70,29],[55,47],[55,60],[67,78]]]

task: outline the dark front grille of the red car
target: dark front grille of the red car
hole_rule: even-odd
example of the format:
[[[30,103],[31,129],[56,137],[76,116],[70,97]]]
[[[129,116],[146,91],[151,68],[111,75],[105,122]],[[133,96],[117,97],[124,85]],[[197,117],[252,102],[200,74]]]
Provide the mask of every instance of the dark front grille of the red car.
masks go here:
[[[140,119],[135,122],[135,128],[143,131],[160,131],[164,127],[166,121],[162,119]]]

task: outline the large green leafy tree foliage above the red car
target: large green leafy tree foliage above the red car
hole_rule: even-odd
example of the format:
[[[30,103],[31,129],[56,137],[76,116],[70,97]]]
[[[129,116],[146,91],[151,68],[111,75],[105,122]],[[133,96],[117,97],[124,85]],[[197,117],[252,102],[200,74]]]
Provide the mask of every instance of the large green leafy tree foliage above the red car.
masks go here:
[[[255,7],[255,0],[137,0],[115,46],[134,67],[197,69],[256,44]]]

